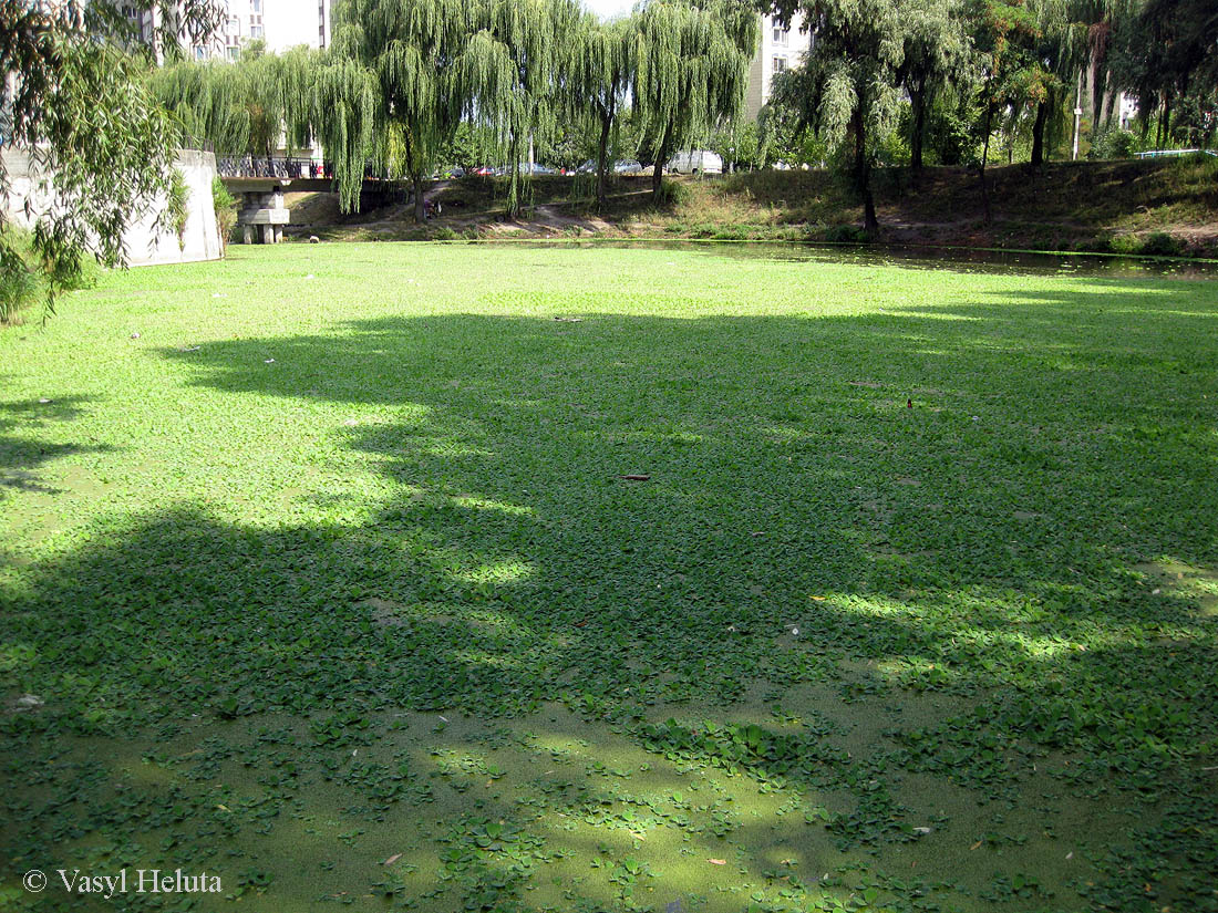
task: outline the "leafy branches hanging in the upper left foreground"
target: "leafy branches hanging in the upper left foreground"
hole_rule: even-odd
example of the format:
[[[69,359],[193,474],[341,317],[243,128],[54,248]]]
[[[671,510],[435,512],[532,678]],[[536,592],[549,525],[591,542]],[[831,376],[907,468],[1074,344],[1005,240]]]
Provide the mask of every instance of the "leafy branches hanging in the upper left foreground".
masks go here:
[[[162,0],[157,9],[171,13],[160,35],[174,49],[179,28],[205,35],[220,16],[213,0]],[[82,281],[86,252],[107,265],[125,263],[124,229],[172,189],[177,131],[145,84],[147,57],[128,51],[132,38],[127,17],[110,0],[88,7],[0,0],[5,145],[30,157],[55,198],[19,201],[29,203],[32,247],[49,302]],[[0,190],[7,189],[0,163]],[[162,226],[169,218],[162,215]],[[0,261],[16,276],[18,253],[10,239],[0,234]]]

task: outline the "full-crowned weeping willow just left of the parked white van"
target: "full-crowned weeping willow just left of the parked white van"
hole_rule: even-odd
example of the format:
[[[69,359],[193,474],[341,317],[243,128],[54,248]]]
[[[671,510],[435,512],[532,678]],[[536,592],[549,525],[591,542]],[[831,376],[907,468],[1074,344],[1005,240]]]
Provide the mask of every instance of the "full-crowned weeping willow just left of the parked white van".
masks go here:
[[[654,198],[672,153],[739,113],[756,41],[756,11],[737,0],[652,0],[637,13],[635,105],[655,159]]]

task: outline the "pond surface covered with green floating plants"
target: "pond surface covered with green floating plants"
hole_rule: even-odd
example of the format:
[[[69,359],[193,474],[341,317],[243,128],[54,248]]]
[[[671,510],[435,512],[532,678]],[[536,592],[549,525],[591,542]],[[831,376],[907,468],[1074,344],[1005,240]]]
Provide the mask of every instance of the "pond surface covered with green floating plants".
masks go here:
[[[108,275],[0,331],[0,902],[1216,911],[1216,321],[713,250]],[[54,880],[123,867],[223,892]]]

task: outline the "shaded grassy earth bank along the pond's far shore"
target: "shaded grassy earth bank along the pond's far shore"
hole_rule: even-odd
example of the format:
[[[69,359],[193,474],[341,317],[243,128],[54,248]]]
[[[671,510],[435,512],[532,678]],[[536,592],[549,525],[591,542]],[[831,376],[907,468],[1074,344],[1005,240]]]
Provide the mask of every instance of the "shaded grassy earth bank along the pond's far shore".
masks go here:
[[[976,173],[928,168],[879,172],[881,241],[1041,251],[1218,256],[1218,159],[1055,163],[991,168],[991,220]],[[294,201],[297,234],[348,240],[503,237],[566,234],[720,240],[854,241],[855,194],[826,172],[755,172],[670,180],[654,205],[647,178],[618,179],[596,213],[587,179],[540,178],[519,223],[502,220],[502,180],[469,178],[434,191],[443,215],[425,229],[393,206],[343,217],[331,195]]]

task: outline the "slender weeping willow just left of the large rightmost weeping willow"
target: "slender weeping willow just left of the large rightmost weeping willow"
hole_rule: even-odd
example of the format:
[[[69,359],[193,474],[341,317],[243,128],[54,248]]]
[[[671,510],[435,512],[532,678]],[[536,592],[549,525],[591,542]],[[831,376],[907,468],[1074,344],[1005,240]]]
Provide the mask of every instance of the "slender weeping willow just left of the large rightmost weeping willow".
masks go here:
[[[610,141],[635,79],[635,22],[602,23],[585,13],[568,45],[561,84],[571,121],[591,118],[597,130],[597,208],[608,202]]]

